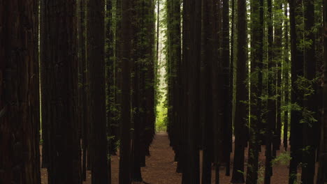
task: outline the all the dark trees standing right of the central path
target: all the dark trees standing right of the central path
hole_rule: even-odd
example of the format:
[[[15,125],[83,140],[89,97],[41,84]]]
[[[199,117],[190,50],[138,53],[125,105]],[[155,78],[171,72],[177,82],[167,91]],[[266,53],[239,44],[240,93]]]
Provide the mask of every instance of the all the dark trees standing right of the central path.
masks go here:
[[[290,184],[298,167],[302,183],[314,183],[315,174],[324,183],[323,2],[181,3],[166,2],[166,79],[168,133],[182,182],[211,183],[212,163],[215,183],[220,166],[228,176],[234,135],[231,183],[258,183],[261,145],[264,183],[281,146],[290,146]]]

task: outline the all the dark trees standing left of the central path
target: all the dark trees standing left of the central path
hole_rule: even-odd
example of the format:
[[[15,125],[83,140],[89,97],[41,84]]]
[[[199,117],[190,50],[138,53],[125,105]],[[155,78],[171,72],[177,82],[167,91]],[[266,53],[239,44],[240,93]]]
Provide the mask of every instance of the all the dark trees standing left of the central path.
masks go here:
[[[40,167],[50,184],[82,183],[87,170],[92,183],[111,183],[117,148],[119,183],[142,181],[154,136],[154,1],[0,10],[0,183],[41,183]]]

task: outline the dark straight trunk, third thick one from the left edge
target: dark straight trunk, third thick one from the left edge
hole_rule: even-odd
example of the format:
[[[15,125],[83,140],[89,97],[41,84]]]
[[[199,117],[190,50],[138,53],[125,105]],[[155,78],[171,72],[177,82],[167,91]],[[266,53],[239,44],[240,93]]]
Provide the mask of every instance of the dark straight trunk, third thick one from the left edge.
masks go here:
[[[108,183],[104,0],[87,3],[92,183]]]

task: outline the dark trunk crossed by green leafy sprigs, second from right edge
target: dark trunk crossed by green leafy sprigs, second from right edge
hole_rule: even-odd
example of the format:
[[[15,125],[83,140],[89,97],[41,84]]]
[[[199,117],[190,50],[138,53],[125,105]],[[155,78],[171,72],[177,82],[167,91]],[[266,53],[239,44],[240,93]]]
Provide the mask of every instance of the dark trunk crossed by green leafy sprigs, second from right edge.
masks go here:
[[[314,57],[314,46],[315,38],[314,32],[314,1],[304,0],[304,23],[305,23],[305,41],[310,42],[311,45],[305,47],[304,60],[305,60],[305,72],[304,76],[308,80],[313,80],[316,77],[316,61]],[[317,86],[312,86],[314,93],[304,97],[304,107],[310,112],[317,112]],[[314,114],[314,118],[317,116]],[[314,173],[315,173],[315,162],[316,162],[316,149],[317,149],[317,139],[314,139],[315,134],[319,132],[317,127],[317,122],[307,121],[303,124],[303,147],[307,148],[303,152],[303,165],[301,181],[302,183],[313,184],[314,183]]]

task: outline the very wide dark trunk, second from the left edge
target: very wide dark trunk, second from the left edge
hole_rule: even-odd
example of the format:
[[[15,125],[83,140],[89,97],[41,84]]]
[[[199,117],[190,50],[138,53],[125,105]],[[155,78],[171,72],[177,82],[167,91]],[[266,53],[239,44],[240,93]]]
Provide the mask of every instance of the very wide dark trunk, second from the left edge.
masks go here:
[[[48,83],[48,98],[43,101],[48,121],[48,183],[80,183],[76,4],[45,0],[43,6],[41,63]]]

